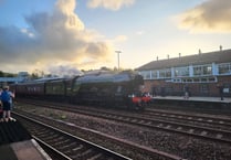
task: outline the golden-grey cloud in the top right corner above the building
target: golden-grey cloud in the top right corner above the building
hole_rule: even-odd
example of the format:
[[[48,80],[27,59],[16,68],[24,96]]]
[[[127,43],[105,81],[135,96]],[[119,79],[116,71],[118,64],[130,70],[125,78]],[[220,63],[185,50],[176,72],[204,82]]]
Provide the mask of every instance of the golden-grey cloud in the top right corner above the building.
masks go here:
[[[191,32],[231,32],[231,1],[208,0],[180,14],[180,28]]]

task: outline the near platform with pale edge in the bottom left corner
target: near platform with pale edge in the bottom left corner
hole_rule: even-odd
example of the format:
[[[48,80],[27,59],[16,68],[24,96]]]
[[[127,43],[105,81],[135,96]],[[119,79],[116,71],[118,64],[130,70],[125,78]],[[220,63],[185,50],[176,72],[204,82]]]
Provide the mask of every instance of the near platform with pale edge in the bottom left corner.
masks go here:
[[[51,160],[19,121],[0,122],[1,160]]]

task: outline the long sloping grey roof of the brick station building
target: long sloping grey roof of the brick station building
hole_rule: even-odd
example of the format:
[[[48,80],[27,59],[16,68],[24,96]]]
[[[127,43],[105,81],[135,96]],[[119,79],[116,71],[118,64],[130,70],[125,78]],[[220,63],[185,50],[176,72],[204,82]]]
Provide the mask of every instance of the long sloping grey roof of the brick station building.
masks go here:
[[[231,50],[200,53],[167,60],[156,60],[138,67],[137,71],[160,70],[176,66],[202,65],[225,62],[231,62]]]

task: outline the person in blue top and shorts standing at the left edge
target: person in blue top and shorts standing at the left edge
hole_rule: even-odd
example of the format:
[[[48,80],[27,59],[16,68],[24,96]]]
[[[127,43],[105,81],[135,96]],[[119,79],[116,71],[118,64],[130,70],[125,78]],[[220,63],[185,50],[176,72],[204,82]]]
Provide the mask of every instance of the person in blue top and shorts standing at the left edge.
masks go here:
[[[15,120],[11,117],[11,109],[12,109],[12,98],[14,98],[14,93],[9,90],[9,86],[3,86],[3,88],[0,88],[0,106],[2,109],[0,121],[9,121],[9,120]]]

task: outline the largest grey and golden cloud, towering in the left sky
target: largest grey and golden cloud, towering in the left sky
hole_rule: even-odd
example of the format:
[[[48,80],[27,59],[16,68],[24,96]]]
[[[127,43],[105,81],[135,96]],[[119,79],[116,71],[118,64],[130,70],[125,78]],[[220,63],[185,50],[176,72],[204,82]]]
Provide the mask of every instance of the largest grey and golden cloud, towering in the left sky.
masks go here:
[[[85,29],[74,9],[75,0],[57,0],[52,13],[24,17],[27,29],[0,26],[0,65],[44,67],[59,62],[86,66],[85,58],[93,64],[109,61],[111,44],[97,41],[98,33]]]

